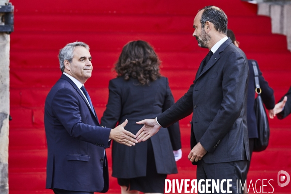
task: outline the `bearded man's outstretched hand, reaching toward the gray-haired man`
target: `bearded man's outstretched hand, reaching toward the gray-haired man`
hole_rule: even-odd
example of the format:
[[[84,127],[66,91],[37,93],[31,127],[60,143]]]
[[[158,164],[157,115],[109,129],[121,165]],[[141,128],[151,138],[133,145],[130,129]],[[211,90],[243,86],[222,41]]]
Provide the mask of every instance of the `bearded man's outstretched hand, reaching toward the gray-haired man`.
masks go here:
[[[144,124],[144,126],[135,135],[138,142],[146,141],[161,129],[161,126],[156,122],[156,119],[145,119],[136,122],[136,124]]]

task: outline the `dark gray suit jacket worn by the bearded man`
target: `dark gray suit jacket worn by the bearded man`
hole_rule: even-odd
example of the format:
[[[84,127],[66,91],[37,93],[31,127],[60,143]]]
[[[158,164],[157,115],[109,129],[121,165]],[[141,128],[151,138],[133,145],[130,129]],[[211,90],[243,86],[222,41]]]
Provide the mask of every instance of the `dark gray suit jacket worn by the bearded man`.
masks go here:
[[[206,163],[249,160],[246,56],[228,39],[203,68],[204,60],[194,84],[158,122],[167,127],[193,112],[191,148],[200,142]]]

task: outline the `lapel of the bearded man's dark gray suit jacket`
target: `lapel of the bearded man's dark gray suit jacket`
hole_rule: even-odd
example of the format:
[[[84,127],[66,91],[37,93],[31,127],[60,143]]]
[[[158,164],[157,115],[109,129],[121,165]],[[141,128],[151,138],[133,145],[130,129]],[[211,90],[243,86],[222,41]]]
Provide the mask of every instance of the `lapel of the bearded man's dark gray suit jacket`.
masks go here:
[[[216,52],[211,56],[209,62],[205,65],[204,69],[203,69],[203,62],[206,59],[206,57],[204,58],[204,60],[201,62],[199,69],[197,71],[196,77],[195,77],[195,81],[202,76],[208,69],[210,69],[211,66],[213,66],[220,58],[220,53],[223,52],[226,47],[231,43],[230,38],[228,38],[217,50]],[[202,67],[201,67],[202,66]],[[199,72],[200,68],[202,68],[202,71]],[[199,73],[199,74],[198,74]],[[198,76],[197,76],[198,75]]]

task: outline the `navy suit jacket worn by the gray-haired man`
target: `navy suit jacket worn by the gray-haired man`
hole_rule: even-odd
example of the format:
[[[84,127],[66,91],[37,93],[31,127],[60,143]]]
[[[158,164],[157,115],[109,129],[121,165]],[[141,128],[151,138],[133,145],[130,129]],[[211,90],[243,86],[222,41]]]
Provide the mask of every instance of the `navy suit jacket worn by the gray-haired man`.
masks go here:
[[[64,74],[46,98],[45,130],[47,189],[108,190],[105,148],[111,129],[99,126],[80,89]]]

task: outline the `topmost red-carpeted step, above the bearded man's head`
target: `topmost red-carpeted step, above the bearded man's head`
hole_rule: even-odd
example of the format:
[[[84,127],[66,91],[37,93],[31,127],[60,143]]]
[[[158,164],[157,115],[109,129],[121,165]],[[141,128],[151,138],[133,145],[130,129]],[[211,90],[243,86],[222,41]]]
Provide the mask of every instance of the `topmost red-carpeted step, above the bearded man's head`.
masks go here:
[[[38,0],[30,0],[27,3],[23,1],[16,1],[16,13],[20,14],[35,14],[47,13],[55,14],[158,14],[158,15],[190,15],[194,16],[197,11],[207,5],[211,5],[212,0],[193,1],[171,1],[168,0],[111,0],[102,1],[94,0],[88,4],[80,4],[78,1],[62,0],[59,2],[42,2]],[[227,16],[256,16],[257,6],[242,1],[217,1],[216,6],[227,11]],[[229,7],[233,9],[229,9]]]

